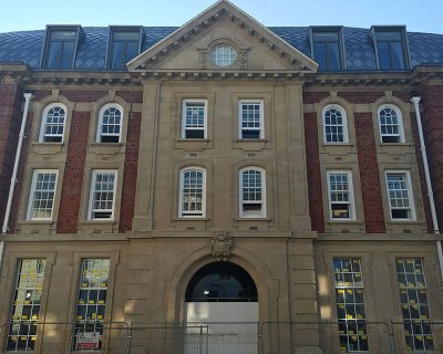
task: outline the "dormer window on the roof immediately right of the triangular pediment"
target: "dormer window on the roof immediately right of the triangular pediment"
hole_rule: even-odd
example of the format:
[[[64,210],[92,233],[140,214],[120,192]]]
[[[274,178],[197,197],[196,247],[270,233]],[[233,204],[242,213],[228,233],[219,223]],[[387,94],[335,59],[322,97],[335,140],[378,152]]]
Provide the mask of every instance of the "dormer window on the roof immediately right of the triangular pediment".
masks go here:
[[[312,29],[312,56],[320,70],[343,67],[340,29]]]

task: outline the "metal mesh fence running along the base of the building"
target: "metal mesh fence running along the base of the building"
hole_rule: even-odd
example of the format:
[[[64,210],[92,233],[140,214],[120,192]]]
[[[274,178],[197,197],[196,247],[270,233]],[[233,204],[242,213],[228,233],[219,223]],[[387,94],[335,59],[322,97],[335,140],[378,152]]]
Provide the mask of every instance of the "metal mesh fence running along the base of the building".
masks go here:
[[[357,322],[357,321],[356,321]],[[99,340],[91,335],[97,322],[32,322],[34,333],[21,333],[25,321],[0,325],[0,352],[13,339],[28,341],[34,353],[107,354],[290,354],[305,346],[319,345],[324,354],[354,352],[356,343],[367,341],[369,351],[396,354],[408,351],[434,351],[442,345],[443,321],[411,320],[400,322],[359,320],[357,327],[338,321],[288,322],[206,322],[143,324],[101,322]],[[346,323],[352,323],[347,321]],[[95,326],[94,326],[95,325]],[[14,327],[16,326],[16,327]],[[352,330],[351,330],[352,329]],[[354,330],[357,329],[357,331]],[[81,337],[81,340],[79,340]],[[343,339],[352,340],[346,346]],[[82,345],[79,345],[79,341]],[[95,341],[95,342],[94,342]],[[344,343],[344,344],[343,344]],[[349,344],[350,342],[348,342]],[[89,346],[90,345],[90,346]],[[93,345],[99,345],[93,347]],[[365,345],[363,343],[363,345]]]

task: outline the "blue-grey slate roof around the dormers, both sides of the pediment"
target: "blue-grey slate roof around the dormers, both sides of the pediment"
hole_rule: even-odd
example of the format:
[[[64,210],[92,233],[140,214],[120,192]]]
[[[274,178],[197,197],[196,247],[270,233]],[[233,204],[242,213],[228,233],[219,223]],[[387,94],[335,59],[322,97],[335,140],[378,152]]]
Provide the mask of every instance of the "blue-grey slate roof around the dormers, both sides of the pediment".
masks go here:
[[[142,51],[172,33],[175,27],[145,27]],[[308,27],[270,27],[270,31],[310,56]],[[79,71],[107,71],[105,56],[109,28],[85,27],[79,43],[75,67]],[[348,71],[377,70],[377,59],[369,29],[343,28]],[[23,62],[40,69],[44,30],[0,33],[0,62]],[[443,34],[408,32],[412,67],[420,64],[443,64]]]

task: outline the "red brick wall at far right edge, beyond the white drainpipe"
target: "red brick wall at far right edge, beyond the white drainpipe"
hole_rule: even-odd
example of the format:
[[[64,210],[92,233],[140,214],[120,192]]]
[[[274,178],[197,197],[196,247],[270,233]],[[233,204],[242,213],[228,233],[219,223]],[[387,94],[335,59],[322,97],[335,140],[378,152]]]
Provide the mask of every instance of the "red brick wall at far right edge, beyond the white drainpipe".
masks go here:
[[[443,228],[443,85],[424,86],[421,92],[423,133],[440,229]],[[425,194],[424,194],[425,196]]]

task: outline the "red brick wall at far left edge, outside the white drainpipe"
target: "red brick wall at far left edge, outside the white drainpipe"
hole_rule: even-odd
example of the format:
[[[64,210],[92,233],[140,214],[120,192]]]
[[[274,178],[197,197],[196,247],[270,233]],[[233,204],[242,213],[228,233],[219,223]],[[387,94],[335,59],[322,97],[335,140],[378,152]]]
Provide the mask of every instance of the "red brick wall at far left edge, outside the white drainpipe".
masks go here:
[[[16,83],[0,85],[0,222],[3,223],[24,102]]]

